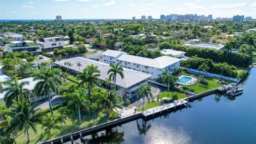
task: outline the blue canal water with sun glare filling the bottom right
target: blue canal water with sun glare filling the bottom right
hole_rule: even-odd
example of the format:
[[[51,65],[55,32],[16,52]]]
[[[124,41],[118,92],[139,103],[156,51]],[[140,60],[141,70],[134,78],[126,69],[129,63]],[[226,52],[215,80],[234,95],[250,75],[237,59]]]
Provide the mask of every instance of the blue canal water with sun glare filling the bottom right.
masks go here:
[[[256,68],[235,99],[211,94],[187,108],[84,137],[85,143],[256,143]]]

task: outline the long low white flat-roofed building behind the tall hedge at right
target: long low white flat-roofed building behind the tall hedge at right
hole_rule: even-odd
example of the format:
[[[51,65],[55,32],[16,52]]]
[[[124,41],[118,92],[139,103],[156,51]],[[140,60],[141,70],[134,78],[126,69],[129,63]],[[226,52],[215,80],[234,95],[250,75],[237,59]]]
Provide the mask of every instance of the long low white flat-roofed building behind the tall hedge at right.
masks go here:
[[[199,39],[192,39],[189,41],[189,43],[183,44],[182,46],[222,50],[225,45],[215,43],[202,43]]]

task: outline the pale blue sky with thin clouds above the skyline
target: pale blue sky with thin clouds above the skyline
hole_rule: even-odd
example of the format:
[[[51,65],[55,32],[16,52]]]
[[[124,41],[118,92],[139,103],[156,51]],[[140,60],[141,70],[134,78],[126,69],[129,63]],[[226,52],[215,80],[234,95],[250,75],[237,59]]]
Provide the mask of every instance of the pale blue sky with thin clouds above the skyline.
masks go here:
[[[255,0],[0,0],[0,19],[131,19],[141,15],[213,14],[256,18]]]

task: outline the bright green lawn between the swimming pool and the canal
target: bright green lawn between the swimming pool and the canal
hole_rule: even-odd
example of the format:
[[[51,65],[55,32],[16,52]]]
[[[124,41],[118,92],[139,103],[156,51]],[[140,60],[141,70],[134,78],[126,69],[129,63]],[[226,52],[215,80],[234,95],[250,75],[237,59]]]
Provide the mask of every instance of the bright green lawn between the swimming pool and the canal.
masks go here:
[[[223,85],[223,84],[218,84],[216,82],[217,81],[216,78],[210,78],[210,77],[204,77],[204,78],[206,79],[206,81],[208,81],[208,85],[203,85],[203,84],[196,83],[196,84],[193,84],[193,85],[189,85],[187,87],[191,87],[192,89],[195,90],[195,93],[198,94],[198,93],[201,93],[201,92],[204,92],[204,91],[215,89],[215,88],[220,87],[220,86]]]

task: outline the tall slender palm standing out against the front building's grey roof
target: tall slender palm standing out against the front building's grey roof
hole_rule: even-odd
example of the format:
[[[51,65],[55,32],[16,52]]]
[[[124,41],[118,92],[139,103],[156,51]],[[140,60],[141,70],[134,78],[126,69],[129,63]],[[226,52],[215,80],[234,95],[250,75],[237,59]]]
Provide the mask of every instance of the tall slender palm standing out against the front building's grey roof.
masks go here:
[[[116,91],[116,76],[119,74],[121,78],[124,78],[124,69],[122,67],[119,67],[120,63],[118,62],[116,65],[113,63],[110,63],[110,69],[108,70],[109,79],[111,79],[114,82],[114,90]]]

